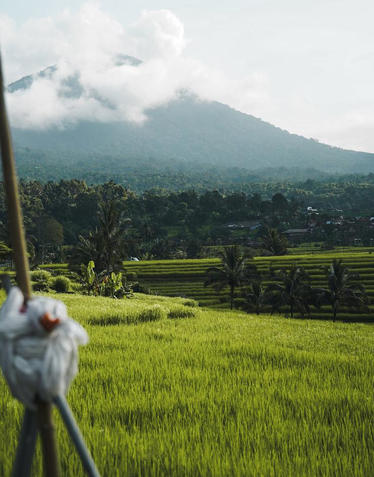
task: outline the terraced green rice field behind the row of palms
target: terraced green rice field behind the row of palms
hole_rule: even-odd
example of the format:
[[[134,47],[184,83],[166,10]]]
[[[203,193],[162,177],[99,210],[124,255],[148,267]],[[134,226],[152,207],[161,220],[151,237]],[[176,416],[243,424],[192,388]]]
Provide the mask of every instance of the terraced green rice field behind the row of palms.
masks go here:
[[[287,269],[295,261],[304,267],[311,276],[311,284],[314,287],[325,287],[327,282],[320,270],[322,265],[327,265],[334,258],[342,258],[347,267],[360,274],[367,295],[372,301],[370,313],[362,311],[343,310],[338,318],[351,321],[374,322],[374,253],[371,249],[356,247],[356,250],[348,250],[344,253],[338,250],[315,253],[313,256],[301,253],[300,255],[287,255],[283,257],[255,257],[254,263],[263,276],[264,285],[268,285],[276,278],[274,271]],[[180,296],[197,300],[201,306],[214,308],[228,308],[228,290],[217,294],[211,287],[204,288],[203,282],[206,277],[206,269],[211,266],[220,266],[219,259],[196,259],[196,260],[154,260],[141,262],[124,262],[124,271],[129,282],[139,281],[148,287],[152,293],[164,296]],[[66,265],[52,264],[45,268],[55,270],[56,273],[69,274]],[[240,290],[235,292],[234,303],[240,307],[244,297]],[[330,317],[328,307],[320,310],[312,309],[311,317],[325,319]]]

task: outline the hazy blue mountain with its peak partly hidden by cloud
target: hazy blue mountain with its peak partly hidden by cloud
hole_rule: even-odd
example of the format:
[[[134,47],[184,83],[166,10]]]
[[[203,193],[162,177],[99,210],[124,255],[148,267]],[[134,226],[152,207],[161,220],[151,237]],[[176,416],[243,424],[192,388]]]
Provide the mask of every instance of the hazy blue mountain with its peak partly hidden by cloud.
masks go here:
[[[125,55],[118,61],[135,66],[140,62]],[[53,73],[54,68],[49,67],[39,75]],[[32,81],[33,76],[26,76],[10,84],[8,90],[28,88]],[[74,83],[74,78],[69,81],[73,93],[79,96],[79,83]],[[204,164],[248,171],[266,168],[317,169],[329,174],[374,171],[374,154],[332,147],[290,134],[227,105],[201,101],[192,94],[181,93],[177,100],[146,114],[148,119],[142,125],[126,121],[81,121],[64,130],[13,129],[12,134],[18,146],[54,151],[56,157],[58,151],[61,154],[70,151],[77,161],[82,154],[105,154],[139,157],[150,164],[170,160],[194,163],[197,168]],[[117,172],[115,164],[111,162],[113,172]]]

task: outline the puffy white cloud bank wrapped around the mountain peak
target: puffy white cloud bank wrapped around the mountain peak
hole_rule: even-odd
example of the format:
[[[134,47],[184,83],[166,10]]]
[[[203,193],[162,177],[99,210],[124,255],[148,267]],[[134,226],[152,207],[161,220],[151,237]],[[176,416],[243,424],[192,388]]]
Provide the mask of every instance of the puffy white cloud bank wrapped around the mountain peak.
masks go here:
[[[11,123],[17,128],[64,128],[78,120],[142,122],[147,109],[186,89],[203,100],[253,113],[269,103],[265,75],[235,80],[185,57],[183,24],[168,10],[143,11],[124,26],[91,2],[78,13],[66,10],[19,28],[3,15],[0,40],[8,82],[56,65],[54,72],[35,77],[29,89],[8,92]],[[124,54],[144,62],[120,65]],[[72,79],[80,95],[71,94]]]

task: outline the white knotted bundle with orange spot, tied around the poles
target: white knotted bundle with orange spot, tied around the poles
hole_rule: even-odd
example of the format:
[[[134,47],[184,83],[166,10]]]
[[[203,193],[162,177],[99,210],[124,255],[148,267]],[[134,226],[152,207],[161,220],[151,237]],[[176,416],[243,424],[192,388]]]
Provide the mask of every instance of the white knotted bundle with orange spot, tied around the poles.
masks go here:
[[[47,402],[66,395],[78,372],[78,344],[87,342],[63,302],[38,297],[24,306],[22,292],[11,288],[0,309],[0,366],[27,407],[36,409],[37,395]]]

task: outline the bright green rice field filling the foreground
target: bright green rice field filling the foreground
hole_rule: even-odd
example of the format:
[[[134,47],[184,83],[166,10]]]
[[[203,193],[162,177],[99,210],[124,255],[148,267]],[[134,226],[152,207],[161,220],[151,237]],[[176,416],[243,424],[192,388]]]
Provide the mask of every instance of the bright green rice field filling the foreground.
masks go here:
[[[90,336],[68,401],[103,476],[374,474],[371,325],[138,294],[59,297]],[[8,476],[21,406],[2,377],[0,415]],[[59,419],[56,428],[61,475],[83,476]]]

